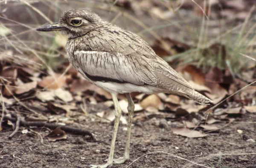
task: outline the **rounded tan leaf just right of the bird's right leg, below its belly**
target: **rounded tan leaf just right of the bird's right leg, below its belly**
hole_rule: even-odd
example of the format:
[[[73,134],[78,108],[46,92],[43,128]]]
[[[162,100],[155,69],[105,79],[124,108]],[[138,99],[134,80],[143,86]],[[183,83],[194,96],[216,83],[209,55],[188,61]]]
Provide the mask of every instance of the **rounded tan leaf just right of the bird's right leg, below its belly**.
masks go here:
[[[150,106],[158,109],[161,104],[162,104],[162,102],[157,95],[149,95],[148,97],[143,99],[143,101],[140,102],[140,106],[143,109],[146,109]]]

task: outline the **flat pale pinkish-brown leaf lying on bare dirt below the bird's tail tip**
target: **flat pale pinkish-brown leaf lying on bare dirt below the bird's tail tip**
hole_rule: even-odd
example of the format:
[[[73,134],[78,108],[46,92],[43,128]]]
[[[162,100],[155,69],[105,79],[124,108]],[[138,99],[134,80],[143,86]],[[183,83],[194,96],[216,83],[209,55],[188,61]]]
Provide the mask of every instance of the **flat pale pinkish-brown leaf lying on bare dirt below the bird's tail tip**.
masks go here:
[[[207,134],[202,134],[199,131],[193,131],[193,130],[190,130],[187,128],[174,128],[173,133],[184,136],[184,137],[189,137],[189,138],[206,137],[207,136]]]

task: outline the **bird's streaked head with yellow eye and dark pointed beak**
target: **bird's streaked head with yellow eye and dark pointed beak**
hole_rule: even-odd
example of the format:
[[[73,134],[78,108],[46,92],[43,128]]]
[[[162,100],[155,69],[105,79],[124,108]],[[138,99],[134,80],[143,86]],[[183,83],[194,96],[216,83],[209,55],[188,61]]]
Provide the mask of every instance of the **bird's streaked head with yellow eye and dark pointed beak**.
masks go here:
[[[85,9],[72,9],[64,12],[59,22],[44,25],[37,31],[61,31],[69,37],[82,36],[106,23],[96,13]]]

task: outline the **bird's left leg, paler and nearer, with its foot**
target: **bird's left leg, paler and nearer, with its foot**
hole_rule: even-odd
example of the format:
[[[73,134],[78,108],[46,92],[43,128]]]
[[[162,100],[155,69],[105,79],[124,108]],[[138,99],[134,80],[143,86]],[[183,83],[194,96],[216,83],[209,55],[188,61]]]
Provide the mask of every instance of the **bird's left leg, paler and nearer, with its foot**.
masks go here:
[[[115,123],[114,123],[114,129],[113,129],[113,134],[112,134],[110,152],[109,152],[109,155],[108,155],[108,162],[104,165],[90,165],[91,168],[107,168],[109,165],[113,164],[113,155],[114,155],[114,150],[115,150],[116,134],[117,134],[117,129],[118,129],[118,125],[119,125],[122,110],[119,106],[116,94],[111,93],[111,95],[112,95],[114,106],[115,106],[115,117],[116,117],[116,119],[115,119]]]

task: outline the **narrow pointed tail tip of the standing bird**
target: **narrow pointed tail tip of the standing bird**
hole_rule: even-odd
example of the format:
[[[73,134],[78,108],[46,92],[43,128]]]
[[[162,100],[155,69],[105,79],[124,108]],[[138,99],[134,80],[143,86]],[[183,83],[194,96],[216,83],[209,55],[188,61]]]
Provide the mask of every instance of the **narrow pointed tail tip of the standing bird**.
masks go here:
[[[195,90],[186,90],[183,92],[184,96],[199,103],[199,104],[211,104],[212,100],[209,98],[205,97],[204,95],[198,93]]]

